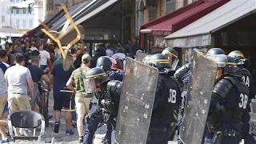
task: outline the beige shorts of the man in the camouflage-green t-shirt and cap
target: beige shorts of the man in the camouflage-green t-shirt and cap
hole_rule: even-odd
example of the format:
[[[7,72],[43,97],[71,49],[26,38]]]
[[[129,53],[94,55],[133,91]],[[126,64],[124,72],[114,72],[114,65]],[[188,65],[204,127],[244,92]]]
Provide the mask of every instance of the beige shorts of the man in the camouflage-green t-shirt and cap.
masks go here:
[[[77,107],[77,114],[88,114],[91,98],[75,97],[74,102]]]

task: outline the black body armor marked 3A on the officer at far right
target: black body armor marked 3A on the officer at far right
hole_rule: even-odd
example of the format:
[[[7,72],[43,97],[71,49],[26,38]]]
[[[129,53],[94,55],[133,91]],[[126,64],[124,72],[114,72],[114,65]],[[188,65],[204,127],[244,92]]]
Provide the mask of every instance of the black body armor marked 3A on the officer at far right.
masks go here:
[[[242,75],[242,81],[246,84],[246,86],[250,90],[250,99],[254,99],[255,98],[254,79],[250,74],[249,70],[245,68],[241,68],[236,73],[239,75]]]

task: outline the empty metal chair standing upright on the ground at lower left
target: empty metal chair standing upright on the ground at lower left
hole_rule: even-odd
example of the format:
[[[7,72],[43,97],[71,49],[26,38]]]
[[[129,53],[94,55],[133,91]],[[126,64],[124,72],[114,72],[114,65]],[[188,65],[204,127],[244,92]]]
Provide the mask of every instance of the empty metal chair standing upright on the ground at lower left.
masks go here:
[[[33,110],[18,110],[10,113],[7,117],[8,127],[10,131],[11,139],[16,143],[16,140],[38,140],[38,144],[41,141],[42,134],[45,132],[45,119],[42,114]],[[35,135],[36,128],[41,126],[39,135]],[[14,128],[33,128],[33,136],[19,136],[13,134]]]

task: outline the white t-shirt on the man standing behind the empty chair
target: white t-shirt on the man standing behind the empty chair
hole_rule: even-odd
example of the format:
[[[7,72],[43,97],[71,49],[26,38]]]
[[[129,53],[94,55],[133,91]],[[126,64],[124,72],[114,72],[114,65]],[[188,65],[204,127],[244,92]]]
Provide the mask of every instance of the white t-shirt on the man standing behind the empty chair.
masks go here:
[[[31,78],[30,70],[25,66],[11,66],[6,70],[5,79],[8,82],[8,94],[27,94],[27,78]]]

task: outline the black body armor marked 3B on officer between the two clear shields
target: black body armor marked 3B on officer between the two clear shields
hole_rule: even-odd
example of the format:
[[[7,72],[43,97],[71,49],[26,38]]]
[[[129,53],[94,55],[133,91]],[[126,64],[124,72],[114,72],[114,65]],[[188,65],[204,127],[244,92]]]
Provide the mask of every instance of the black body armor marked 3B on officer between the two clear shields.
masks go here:
[[[178,108],[182,102],[178,82],[168,74],[160,74],[158,83],[163,84],[164,92],[162,101],[153,110],[152,118],[158,118],[162,125],[176,123],[178,120]]]

